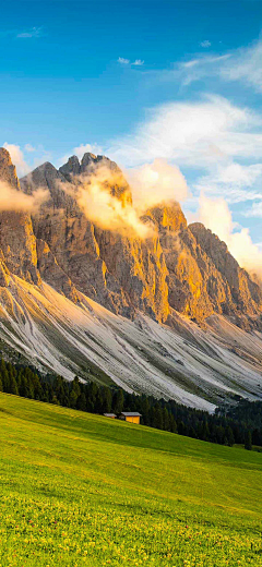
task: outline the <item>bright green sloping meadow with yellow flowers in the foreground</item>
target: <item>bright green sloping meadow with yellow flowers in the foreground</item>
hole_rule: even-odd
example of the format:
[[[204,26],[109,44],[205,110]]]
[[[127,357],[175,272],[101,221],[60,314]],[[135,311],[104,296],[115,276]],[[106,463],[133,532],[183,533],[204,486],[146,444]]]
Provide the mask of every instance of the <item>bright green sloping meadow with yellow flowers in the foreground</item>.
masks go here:
[[[0,394],[1,567],[262,566],[262,455]]]

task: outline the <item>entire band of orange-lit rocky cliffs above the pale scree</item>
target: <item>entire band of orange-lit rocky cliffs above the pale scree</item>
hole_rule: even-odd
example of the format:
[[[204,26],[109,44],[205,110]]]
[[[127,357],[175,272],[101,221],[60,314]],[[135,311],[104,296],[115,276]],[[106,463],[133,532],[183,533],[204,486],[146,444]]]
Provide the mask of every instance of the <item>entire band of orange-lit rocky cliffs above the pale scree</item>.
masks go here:
[[[0,154],[1,178],[20,191],[9,154]],[[8,273],[27,281],[39,277],[74,302],[83,292],[114,313],[133,317],[140,310],[158,322],[172,310],[201,322],[213,313],[239,326],[261,327],[261,287],[241,269],[226,244],[203,225],[187,226],[177,203],[151,208],[142,221],[155,232],[140,239],[105,230],[86,218],[75,188],[105,170],[105,188],[122,207],[132,204],[131,189],[115,162],[103,156],[76,156],[57,170],[46,162],[21,180],[32,194],[48,189],[49,200],[33,218],[1,213],[2,281]]]

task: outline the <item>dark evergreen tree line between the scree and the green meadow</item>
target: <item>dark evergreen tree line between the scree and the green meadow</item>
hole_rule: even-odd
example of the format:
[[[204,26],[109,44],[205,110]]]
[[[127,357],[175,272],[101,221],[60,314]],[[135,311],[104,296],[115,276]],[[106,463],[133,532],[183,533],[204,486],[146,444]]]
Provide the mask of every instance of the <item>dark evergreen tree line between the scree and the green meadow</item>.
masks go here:
[[[153,396],[130,394],[118,387],[94,382],[72,382],[62,376],[39,375],[35,369],[0,360],[0,390],[24,398],[64,406],[91,413],[139,411],[141,423],[192,438],[233,446],[243,444],[262,447],[262,402],[240,400],[214,414],[188,408],[175,400],[157,400]]]

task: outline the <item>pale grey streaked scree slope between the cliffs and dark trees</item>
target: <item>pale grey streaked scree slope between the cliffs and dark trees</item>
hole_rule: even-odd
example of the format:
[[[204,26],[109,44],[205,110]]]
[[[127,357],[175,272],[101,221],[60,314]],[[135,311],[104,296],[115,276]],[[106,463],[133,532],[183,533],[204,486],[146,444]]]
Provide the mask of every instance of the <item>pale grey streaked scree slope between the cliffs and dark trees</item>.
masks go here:
[[[82,293],[75,304],[16,276],[0,288],[0,346],[35,366],[209,411],[236,396],[262,399],[261,334],[222,315],[209,317],[205,329],[176,313],[172,322],[170,328],[141,312],[130,321]]]

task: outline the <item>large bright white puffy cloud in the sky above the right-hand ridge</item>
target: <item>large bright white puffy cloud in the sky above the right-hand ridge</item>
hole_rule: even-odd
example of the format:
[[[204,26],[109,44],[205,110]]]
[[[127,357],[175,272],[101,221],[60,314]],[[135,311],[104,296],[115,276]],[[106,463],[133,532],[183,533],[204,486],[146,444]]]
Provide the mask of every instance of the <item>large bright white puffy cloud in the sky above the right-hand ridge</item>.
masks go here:
[[[169,102],[147,113],[133,134],[116,140],[109,155],[128,167],[165,158],[206,168],[228,158],[262,158],[262,117],[218,96]]]

